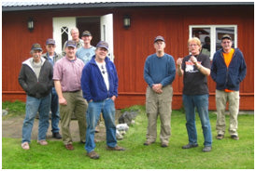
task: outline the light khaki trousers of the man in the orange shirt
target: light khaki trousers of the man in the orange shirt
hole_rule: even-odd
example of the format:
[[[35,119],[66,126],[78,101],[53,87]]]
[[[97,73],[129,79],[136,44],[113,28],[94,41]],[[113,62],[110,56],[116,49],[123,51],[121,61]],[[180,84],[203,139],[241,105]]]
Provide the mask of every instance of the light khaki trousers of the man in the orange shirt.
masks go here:
[[[225,92],[216,90],[216,108],[217,108],[217,122],[216,130],[217,134],[224,135],[226,129],[225,123],[225,109],[227,101],[229,102],[229,112],[230,112],[230,124],[229,124],[229,134],[238,136],[237,133],[237,116],[239,112],[239,91],[235,92]]]

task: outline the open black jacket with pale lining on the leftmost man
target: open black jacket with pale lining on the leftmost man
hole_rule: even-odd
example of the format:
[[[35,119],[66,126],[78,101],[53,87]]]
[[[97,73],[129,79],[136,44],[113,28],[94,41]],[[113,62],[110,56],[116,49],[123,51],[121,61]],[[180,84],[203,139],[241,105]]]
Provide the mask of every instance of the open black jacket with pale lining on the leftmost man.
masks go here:
[[[19,84],[28,96],[40,99],[50,94],[53,87],[52,74],[53,69],[49,61],[41,58],[43,64],[38,76],[34,72],[30,59],[22,62],[21,72],[19,74]]]

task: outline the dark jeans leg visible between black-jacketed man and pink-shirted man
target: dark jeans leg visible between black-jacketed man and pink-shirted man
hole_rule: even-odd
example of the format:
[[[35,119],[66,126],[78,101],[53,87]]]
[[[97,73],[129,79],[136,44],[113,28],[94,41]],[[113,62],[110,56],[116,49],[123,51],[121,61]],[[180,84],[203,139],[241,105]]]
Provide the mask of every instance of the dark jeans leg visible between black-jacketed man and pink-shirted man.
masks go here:
[[[59,98],[58,94],[54,87],[51,90],[51,132],[57,133],[60,131],[59,122],[60,122],[60,109],[59,109]]]

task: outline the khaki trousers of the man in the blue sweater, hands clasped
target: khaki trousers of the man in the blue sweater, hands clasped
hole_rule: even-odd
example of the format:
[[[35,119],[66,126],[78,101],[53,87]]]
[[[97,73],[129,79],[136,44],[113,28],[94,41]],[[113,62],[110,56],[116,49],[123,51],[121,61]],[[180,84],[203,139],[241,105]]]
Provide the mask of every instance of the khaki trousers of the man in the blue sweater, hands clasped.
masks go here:
[[[171,113],[172,113],[173,87],[164,86],[163,93],[155,93],[151,87],[147,87],[146,112],[148,116],[147,140],[154,142],[157,138],[157,117],[160,115],[162,143],[169,143],[171,136]]]

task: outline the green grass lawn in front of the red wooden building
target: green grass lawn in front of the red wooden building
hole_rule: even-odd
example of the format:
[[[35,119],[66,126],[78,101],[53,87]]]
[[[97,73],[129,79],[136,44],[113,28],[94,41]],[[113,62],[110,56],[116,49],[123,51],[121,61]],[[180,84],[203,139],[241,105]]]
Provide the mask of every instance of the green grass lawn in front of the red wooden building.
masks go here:
[[[135,125],[131,125],[128,133],[119,145],[126,151],[107,151],[106,141],[97,142],[95,151],[101,156],[92,160],[86,156],[84,146],[74,143],[74,151],[66,151],[62,141],[49,141],[48,146],[36,144],[32,140],[31,149],[21,149],[21,138],[2,139],[3,169],[253,169],[254,168],[254,115],[239,115],[239,140],[229,138],[228,131],[222,140],[216,136],[216,114],[210,113],[213,133],[213,149],[203,152],[203,133],[198,116],[196,126],[198,132],[198,148],[182,150],[188,143],[185,126],[185,114],[172,112],[172,136],[168,148],[160,147],[158,137],[156,143],[144,146],[148,119],[145,106],[134,106],[124,111],[137,111]],[[227,124],[229,116],[226,117]],[[160,123],[158,121],[158,134]]]

